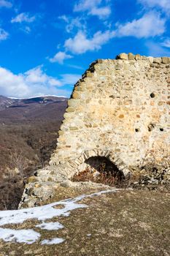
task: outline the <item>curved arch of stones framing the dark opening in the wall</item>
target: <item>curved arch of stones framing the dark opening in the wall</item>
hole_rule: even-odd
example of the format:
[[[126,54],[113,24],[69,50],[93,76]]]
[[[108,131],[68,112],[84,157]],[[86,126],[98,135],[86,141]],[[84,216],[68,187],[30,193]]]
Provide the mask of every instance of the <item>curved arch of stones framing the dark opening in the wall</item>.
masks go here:
[[[116,167],[123,173],[123,176],[128,176],[130,174],[130,170],[128,170],[128,167],[125,165],[122,159],[113,156],[113,154],[114,153],[110,150],[86,150],[80,155],[80,157],[69,161],[69,165],[71,165],[72,167],[76,167],[82,165],[90,157],[106,157],[107,159],[109,159],[110,162],[112,162],[112,164],[116,165]]]

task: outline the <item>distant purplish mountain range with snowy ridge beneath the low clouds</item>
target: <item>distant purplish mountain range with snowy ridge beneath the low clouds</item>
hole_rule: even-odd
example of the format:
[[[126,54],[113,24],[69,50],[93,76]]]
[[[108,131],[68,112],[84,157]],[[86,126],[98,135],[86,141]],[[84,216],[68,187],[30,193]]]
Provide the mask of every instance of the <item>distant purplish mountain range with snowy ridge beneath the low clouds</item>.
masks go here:
[[[67,98],[55,96],[15,99],[0,96],[0,124],[13,121],[61,120]]]

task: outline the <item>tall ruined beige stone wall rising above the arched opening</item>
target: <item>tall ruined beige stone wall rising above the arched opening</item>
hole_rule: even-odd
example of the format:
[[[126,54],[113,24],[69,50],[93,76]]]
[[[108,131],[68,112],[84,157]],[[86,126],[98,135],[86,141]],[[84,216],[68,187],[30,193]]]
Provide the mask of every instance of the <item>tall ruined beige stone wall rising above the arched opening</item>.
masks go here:
[[[50,165],[107,156],[124,171],[169,165],[169,58],[98,60],[74,86]]]

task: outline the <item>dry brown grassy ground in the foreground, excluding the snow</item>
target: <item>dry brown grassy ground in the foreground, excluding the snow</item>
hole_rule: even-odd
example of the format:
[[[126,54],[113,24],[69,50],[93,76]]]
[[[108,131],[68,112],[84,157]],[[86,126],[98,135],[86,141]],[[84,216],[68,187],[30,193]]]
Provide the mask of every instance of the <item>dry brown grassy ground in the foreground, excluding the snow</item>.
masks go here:
[[[64,238],[62,244],[41,245],[0,241],[0,255],[47,256],[169,256],[170,194],[147,190],[120,190],[79,203],[87,208],[69,217],[53,218],[61,230],[34,230],[47,238]],[[51,221],[51,219],[50,219]],[[33,228],[37,220],[5,227]]]

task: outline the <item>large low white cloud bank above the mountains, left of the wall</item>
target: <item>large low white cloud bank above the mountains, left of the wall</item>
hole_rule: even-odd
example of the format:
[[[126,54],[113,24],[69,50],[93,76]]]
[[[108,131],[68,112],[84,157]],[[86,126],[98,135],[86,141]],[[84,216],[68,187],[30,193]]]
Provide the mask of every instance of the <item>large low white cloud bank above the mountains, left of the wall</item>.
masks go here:
[[[65,74],[61,75],[61,79],[56,79],[45,74],[42,67],[19,75],[0,67],[0,91],[4,96],[20,98],[49,94],[69,96],[71,91],[62,89],[62,86],[73,86],[78,78],[80,75]]]

